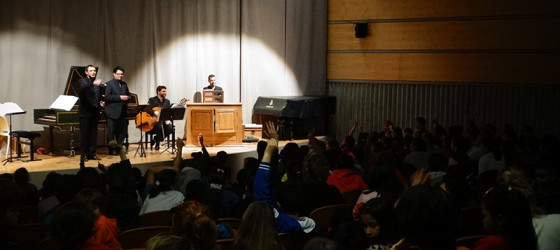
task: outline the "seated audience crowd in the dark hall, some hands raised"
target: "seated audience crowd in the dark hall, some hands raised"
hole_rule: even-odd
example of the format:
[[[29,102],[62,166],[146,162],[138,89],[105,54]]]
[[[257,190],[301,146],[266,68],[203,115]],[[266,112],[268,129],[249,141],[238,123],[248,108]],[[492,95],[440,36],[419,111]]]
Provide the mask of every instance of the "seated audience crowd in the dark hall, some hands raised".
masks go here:
[[[65,249],[120,249],[118,233],[158,210],[174,214],[174,235],[152,238],[147,249],[217,249],[217,238],[234,238],[235,249],[281,249],[278,233],[313,232],[315,221],[306,216],[347,202],[341,193],[354,189],[363,189],[355,221],[350,214],[349,222],[331,221],[334,241],[318,238],[306,249],[455,249],[457,211],[472,205],[482,206],[489,234],[473,249],[560,247],[557,136],[539,138],[525,126],[518,137],[511,125],[499,132],[472,119],[465,128],[434,124],[418,117],[414,130],[387,121],[383,131],[368,132],[356,121],[340,144],[311,131],[307,145],[288,143],[281,151],[274,125],[266,124],[270,140],[259,142],[259,157],[244,166],[228,165],[226,152],[210,157],[200,136],[202,152],[188,166],[178,140],[173,166],[142,176],[122,150],[121,162],[105,171],[101,165],[101,174],[52,172],[39,191],[21,168],[0,176],[0,248],[33,248],[10,229],[26,205],[36,206]],[[224,217],[242,218],[241,226],[225,229],[217,223]]]

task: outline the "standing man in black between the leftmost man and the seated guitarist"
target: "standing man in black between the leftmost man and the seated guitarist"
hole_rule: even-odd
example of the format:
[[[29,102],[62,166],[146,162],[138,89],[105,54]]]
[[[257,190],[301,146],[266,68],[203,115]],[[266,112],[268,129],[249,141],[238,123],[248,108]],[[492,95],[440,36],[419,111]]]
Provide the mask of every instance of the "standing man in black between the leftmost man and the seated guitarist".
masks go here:
[[[128,86],[123,79],[124,68],[117,66],[113,69],[113,80],[105,83],[105,116],[107,117],[107,140],[117,140],[119,145],[124,143],[127,135],[126,108],[131,98]],[[109,154],[117,154],[116,149],[109,148]]]

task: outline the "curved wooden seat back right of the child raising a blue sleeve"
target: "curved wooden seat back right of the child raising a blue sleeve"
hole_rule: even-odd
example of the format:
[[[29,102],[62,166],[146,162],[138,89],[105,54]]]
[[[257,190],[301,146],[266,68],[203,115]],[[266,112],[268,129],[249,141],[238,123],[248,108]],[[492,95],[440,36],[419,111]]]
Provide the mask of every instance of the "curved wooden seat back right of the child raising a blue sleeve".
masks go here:
[[[352,209],[348,204],[329,205],[317,208],[309,217],[315,221],[315,232],[321,237],[326,237],[333,222],[340,219],[352,220]]]

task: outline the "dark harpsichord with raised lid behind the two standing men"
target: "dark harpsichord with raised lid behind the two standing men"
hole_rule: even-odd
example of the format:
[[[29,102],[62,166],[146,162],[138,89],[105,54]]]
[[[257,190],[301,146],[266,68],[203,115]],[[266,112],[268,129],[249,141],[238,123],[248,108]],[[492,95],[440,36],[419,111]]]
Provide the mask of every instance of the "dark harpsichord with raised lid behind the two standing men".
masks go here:
[[[85,66],[71,66],[70,72],[68,73],[68,79],[66,80],[66,86],[64,87],[64,95],[78,96],[78,80],[85,77]],[[101,93],[105,93],[105,89],[101,88]],[[128,100],[128,110],[126,113],[127,120],[133,120],[136,117],[136,113],[132,110],[138,105],[138,95],[130,93],[131,97]],[[79,125],[78,119],[78,107],[80,105],[80,100],[76,102],[72,110],[53,110],[53,109],[34,109],[33,118],[35,124],[47,125],[50,127],[50,149],[54,150],[53,143],[53,127],[70,127],[73,130],[75,126]],[[105,116],[101,114],[99,123],[105,123]],[[79,138],[79,136],[76,136]],[[128,141],[128,138],[127,138]],[[79,143],[78,143],[79,145]],[[70,145],[72,147],[72,145]]]

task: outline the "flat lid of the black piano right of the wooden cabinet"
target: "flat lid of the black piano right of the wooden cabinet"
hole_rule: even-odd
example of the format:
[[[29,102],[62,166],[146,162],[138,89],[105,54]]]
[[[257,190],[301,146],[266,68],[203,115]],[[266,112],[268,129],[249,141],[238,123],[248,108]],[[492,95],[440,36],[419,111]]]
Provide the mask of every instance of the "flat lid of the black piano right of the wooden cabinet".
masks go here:
[[[334,96],[260,96],[253,114],[287,118],[312,118],[335,114]]]

